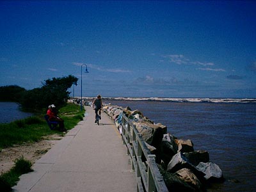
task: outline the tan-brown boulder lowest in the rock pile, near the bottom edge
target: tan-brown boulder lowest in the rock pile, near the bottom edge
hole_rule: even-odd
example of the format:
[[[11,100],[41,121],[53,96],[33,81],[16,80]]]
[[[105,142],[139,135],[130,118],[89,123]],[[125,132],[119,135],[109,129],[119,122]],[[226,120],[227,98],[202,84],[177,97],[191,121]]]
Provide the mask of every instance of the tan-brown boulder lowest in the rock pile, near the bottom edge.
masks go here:
[[[204,187],[200,180],[196,177],[196,175],[191,172],[188,168],[183,168],[177,172],[175,172],[180,179],[184,180],[190,186],[196,189],[196,191],[204,191]]]

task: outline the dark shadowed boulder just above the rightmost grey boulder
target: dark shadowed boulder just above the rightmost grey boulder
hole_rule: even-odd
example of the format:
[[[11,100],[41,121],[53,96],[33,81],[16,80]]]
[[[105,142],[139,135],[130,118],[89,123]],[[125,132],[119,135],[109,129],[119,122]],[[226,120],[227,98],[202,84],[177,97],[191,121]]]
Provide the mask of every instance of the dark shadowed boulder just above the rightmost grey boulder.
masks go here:
[[[194,152],[184,153],[184,156],[190,163],[197,166],[200,162],[209,162],[209,153],[206,150],[196,150]]]

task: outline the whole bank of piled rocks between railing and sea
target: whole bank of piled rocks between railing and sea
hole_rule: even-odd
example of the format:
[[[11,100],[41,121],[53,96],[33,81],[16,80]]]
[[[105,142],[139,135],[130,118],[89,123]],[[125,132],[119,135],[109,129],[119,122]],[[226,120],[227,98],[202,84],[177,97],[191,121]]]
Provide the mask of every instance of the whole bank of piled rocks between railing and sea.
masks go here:
[[[191,140],[180,140],[167,132],[167,127],[143,116],[129,107],[106,105],[103,108],[122,134],[122,115],[136,126],[147,143],[148,149],[156,155],[166,186],[169,191],[206,191],[212,182],[225,179],[220,167],[211,162],[205,150],[194,150]]]

